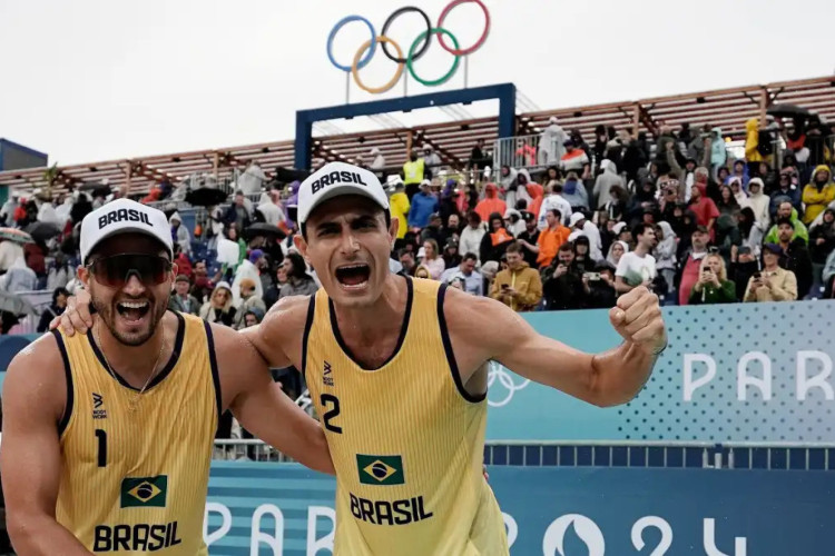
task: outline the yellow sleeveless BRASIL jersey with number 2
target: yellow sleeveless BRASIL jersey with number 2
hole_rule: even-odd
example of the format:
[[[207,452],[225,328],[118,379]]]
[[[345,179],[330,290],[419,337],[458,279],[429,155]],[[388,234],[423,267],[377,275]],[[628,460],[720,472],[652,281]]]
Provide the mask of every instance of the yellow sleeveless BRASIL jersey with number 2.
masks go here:
[[[311,299],[302,366],[336,468],[334,554],[507,555],[482,475],[487,401],[461,385],[445,286],[406,280],[397,347],[373,370],[345,346],[324,289]]]

